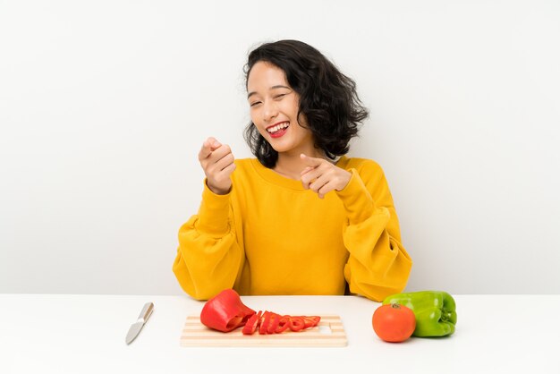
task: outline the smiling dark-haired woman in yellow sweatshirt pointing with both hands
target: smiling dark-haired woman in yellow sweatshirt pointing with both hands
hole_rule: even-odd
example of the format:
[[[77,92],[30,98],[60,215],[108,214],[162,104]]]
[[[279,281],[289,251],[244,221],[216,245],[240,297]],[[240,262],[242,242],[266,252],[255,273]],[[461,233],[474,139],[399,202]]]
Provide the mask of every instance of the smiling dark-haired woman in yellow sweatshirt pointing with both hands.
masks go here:
[[[241,294],[400,293],[412,267],[391,193],[374,161],[349,158],[367,116],[355,83],[314,47],[264,44],[245,68],[257,158],[215,138],[197,215],[182,225],[174,274],[205,300]]]

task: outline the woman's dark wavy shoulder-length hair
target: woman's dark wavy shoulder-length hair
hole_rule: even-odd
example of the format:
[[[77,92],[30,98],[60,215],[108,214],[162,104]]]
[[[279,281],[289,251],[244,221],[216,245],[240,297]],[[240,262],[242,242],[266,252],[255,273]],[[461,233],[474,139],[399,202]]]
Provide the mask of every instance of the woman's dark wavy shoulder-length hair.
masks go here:
[[[250,52],[244,68],[245,88],[250,70],[259,61],[282,69],[288,84],[299,94],[298,122],[300,115],[305,115],[315,147],[323,149],[330,159],[346,154],[350,140],[358,135],[361,122],[368,117],[368,110],[358,98],[356,83],[314,47],[298,40],[279,40]],[[245,128],[244,138],[263,166],[276,165],[278,152],[252,121]]]

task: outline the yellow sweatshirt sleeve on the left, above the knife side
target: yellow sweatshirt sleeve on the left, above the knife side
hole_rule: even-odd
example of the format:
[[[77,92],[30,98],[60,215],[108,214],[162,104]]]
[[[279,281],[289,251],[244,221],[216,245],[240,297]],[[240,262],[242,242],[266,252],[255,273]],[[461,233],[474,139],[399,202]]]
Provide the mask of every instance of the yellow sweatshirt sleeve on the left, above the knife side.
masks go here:
[[[205,181],[198,215],[179,229],[173,271],[182,289],[197,300],[208,300],[225,288],[233,288],[243,265],[231,194],[216,195]]]

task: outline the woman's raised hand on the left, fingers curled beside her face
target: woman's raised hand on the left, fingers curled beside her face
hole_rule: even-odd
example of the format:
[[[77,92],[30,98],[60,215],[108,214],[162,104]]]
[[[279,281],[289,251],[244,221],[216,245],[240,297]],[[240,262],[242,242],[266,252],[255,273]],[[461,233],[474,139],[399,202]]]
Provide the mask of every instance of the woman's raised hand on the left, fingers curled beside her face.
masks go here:
[[[206,184],[210,191],[225,195],[232,188],[230,175],[235,170],[232,149],[221,144],[214,138],[208,138],[202,144],[199,152],[199,161],[204,174]]]

